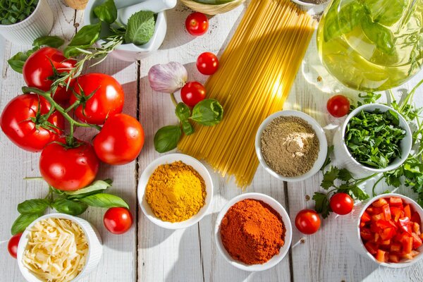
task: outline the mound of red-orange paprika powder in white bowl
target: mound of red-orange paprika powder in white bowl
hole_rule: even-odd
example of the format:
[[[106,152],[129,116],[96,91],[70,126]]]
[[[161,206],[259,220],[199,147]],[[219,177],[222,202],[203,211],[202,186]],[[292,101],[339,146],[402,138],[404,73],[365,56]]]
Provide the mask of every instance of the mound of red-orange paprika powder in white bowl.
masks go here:
[[[246,199],[222,219],[220,234],[229,255],[245,264],[264,264],[284,245],[285,225],[269,204]]]

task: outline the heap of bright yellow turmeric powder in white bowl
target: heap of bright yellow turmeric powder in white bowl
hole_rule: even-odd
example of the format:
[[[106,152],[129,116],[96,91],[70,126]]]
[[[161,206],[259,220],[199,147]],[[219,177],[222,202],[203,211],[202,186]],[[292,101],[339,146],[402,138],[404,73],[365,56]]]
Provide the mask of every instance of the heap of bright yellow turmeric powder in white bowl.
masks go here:
[[[204,206],[204,179],[182,161],[164,164],[150,176],[145,197],[154,214],[163,221],[190,219]]]

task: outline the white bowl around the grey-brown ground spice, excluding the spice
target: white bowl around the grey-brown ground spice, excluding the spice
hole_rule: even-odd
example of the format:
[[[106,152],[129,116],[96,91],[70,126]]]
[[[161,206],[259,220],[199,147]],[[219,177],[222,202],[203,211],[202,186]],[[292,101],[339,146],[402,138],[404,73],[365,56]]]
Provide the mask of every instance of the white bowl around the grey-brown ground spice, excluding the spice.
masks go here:
[[[320,147],[319,147],[319,154],[317,155],[317,159],[314,162],[314,165],[312,166],[312,168],[307,173],[303,174],[302,176],[295,176],[295,177],[281,176],[280,174],[276,173],[276,171],[271,169],[266,164],[266,161],[264,160],[264,157],[262,154],[262,142],[261,142],[263,130],[264,128],[266,128],[266,126],[269,123],[271,123],[271,121],[273,121],[275,118],[278,118],[279,116],[298,116],[299,118],[302,118],[303,120],[307,121],[309,125],[312,126],[314,132],[316,132],[317,138],[319,139]],[[264,170],[266,170],[268,173],[278,178],[279,180],[283,180],[287,182],[297,182],[297,181],[302,181],[309,177],[314,176],[314,174],[316,174],[319,171],[321,166],[323,166],[324,161],[326,159],[326,154],[328,152],[328,142],[326,140],[326,135],[324,134],[323,128],[321,128],[319,123],[317,123],[317,121],[314,118],[303,113],[302,111],[286,110],[286,111],[277,111],[276,113],[268,116],[262,122],[262,124],[259,127],[259,130],[257,130],[257,134],[255,138],[255,149],[256,149],[257,158],[259,159],[260,164],[262,164],[262,166],[264,167]]]

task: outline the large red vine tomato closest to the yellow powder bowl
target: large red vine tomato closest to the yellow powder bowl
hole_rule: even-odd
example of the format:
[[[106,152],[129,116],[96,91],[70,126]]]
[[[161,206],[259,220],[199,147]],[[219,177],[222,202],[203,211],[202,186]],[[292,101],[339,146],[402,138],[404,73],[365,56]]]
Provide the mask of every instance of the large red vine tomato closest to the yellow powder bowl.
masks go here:
[[[144,130],[132,116],[116,114],[107,118],[93,144],[97,157],[106,164],[128,164],[141,152]]]

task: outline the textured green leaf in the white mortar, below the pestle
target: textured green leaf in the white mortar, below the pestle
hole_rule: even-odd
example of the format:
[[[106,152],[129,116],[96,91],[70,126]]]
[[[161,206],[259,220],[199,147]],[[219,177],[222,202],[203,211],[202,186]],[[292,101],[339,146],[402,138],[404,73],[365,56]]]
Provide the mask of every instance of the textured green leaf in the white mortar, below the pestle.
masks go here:
[[[138,46],[147,44],[154,35],[155,25],[156,20],[153,12],[139,11],[134,13],[128,20],[125,43],[133,43]]]

